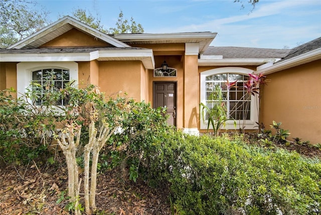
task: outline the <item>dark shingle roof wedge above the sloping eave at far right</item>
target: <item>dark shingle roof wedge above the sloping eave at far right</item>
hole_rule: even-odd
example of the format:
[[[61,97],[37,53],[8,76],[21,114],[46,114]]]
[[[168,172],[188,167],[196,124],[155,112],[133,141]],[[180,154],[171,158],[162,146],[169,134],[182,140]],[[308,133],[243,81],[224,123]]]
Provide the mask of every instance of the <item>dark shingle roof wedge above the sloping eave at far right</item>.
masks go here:
[[[317,48],[321,48],[321,37],[316,38],[314,40],[311,40],[310,42],[304,43],[300,46],[297,46],[297,47],[291,49],[291,51],[282,60],[277,61],[276,63],[282,62],[284,60],[288,60],[288,59],[296,57],[296,56],[299,56],[301,54],[315,50]]]

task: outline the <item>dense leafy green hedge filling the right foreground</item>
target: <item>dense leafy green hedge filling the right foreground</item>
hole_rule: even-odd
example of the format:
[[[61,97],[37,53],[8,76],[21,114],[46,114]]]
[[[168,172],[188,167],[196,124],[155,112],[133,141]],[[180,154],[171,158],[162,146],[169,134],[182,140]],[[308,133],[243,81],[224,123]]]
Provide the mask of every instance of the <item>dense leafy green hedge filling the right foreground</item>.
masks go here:
[[[167,181],[187,214],[320,212],[321,164],[241,139],[169,134],[155,146],[151,180]]]

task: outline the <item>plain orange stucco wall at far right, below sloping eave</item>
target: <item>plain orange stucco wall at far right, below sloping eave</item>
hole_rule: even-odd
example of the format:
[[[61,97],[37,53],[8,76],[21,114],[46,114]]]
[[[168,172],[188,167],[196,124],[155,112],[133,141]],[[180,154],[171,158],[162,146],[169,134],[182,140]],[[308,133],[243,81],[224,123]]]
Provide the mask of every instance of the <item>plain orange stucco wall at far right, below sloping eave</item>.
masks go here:
[[[267,75],[261,100],[261,122],[269,129],[282,122],[291,138],[321,143],[321,60]]]

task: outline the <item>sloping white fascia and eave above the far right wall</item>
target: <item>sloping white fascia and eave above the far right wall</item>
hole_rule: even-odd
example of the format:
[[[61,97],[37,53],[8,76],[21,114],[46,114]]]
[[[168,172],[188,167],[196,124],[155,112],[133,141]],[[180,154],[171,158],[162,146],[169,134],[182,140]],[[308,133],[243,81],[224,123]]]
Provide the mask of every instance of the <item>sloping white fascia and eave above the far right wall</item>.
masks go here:
[[[265,75],[274,73],[274,72],[278,72],[284,69],[288,69],[294,66],[298,66],[304,63],[308,63],[311,62],[313,60],[318,60],[321,59],[321,48],[312,50],[310,52],[301,54],[299,56],[290,58],[288,60],[284,60],[280,63],[275,63],[271,66],[268,67],[262,67],[262,68],[257,68],[257,71],[255,72],[256,74],[258,73],[262,73]]]

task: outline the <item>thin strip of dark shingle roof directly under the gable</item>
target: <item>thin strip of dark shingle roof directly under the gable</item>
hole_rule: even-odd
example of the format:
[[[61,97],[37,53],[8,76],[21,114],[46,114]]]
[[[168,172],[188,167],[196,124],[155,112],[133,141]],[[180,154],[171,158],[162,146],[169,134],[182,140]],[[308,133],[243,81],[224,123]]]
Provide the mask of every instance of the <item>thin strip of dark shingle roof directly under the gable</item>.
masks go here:
[[[98,50],[143,50],[145,48],[134,47],[61,47],[61,48],[35,48],[35,49],[0,49],[4,54],[22,53],[89,53]]]

